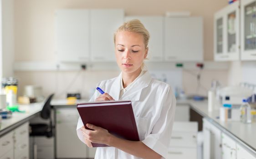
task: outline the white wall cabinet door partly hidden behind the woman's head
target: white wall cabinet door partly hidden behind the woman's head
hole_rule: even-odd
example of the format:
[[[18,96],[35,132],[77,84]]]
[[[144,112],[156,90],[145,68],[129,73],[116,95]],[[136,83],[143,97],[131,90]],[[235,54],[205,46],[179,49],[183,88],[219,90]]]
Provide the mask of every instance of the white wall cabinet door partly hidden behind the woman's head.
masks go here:
[[[148,30],[148,62],[163,61],[164,55],[164,18],[162,16],[127,16],[125,21],[138,19]]]

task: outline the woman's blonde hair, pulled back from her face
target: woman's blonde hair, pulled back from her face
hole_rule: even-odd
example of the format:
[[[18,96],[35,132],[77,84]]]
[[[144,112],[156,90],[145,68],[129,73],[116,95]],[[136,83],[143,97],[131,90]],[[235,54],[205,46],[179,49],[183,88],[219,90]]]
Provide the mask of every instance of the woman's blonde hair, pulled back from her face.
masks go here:
[[[121,25],[118,28],[118,30],[116,30],[116,32],[114,33],[114,44],[116,44],[117,33],[121,32],[121,31],[129,31],[129,32],[138,33],[138,34],[142,35],[145,48],[146,49],[148,48],[148,41],[150,38],[149,32],[138,19],[129,20],[129,21],[123,23],[123,25]],[[145,60],[148,60],[148,58],[145,58]],[[141,69],[142,70],[146,69],[146,66],[144,63],[141,65]]]

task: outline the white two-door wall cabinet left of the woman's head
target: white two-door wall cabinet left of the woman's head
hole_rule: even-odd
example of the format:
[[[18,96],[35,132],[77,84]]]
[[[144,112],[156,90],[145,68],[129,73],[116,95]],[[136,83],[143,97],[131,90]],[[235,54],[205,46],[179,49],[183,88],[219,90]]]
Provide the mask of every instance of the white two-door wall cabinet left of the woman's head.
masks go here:
[[[113,34],[123,10],[57,10],[56,52],[61,62],[115,61]]]

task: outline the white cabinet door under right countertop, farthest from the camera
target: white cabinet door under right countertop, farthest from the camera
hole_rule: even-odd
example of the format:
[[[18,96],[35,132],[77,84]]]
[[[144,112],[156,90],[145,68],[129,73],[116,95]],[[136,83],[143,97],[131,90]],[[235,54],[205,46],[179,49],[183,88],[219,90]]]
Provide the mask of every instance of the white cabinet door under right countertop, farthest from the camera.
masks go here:
[[[203,119],[204,159],[221,159],[221,131]]]

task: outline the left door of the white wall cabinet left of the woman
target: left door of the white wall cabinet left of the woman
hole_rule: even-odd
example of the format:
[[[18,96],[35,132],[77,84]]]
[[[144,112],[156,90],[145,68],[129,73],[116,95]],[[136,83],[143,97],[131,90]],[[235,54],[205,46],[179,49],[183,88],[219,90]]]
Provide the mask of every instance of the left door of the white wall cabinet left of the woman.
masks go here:
[[[56,53],[61,62],[89,60],[89,10],[57,10]]]

